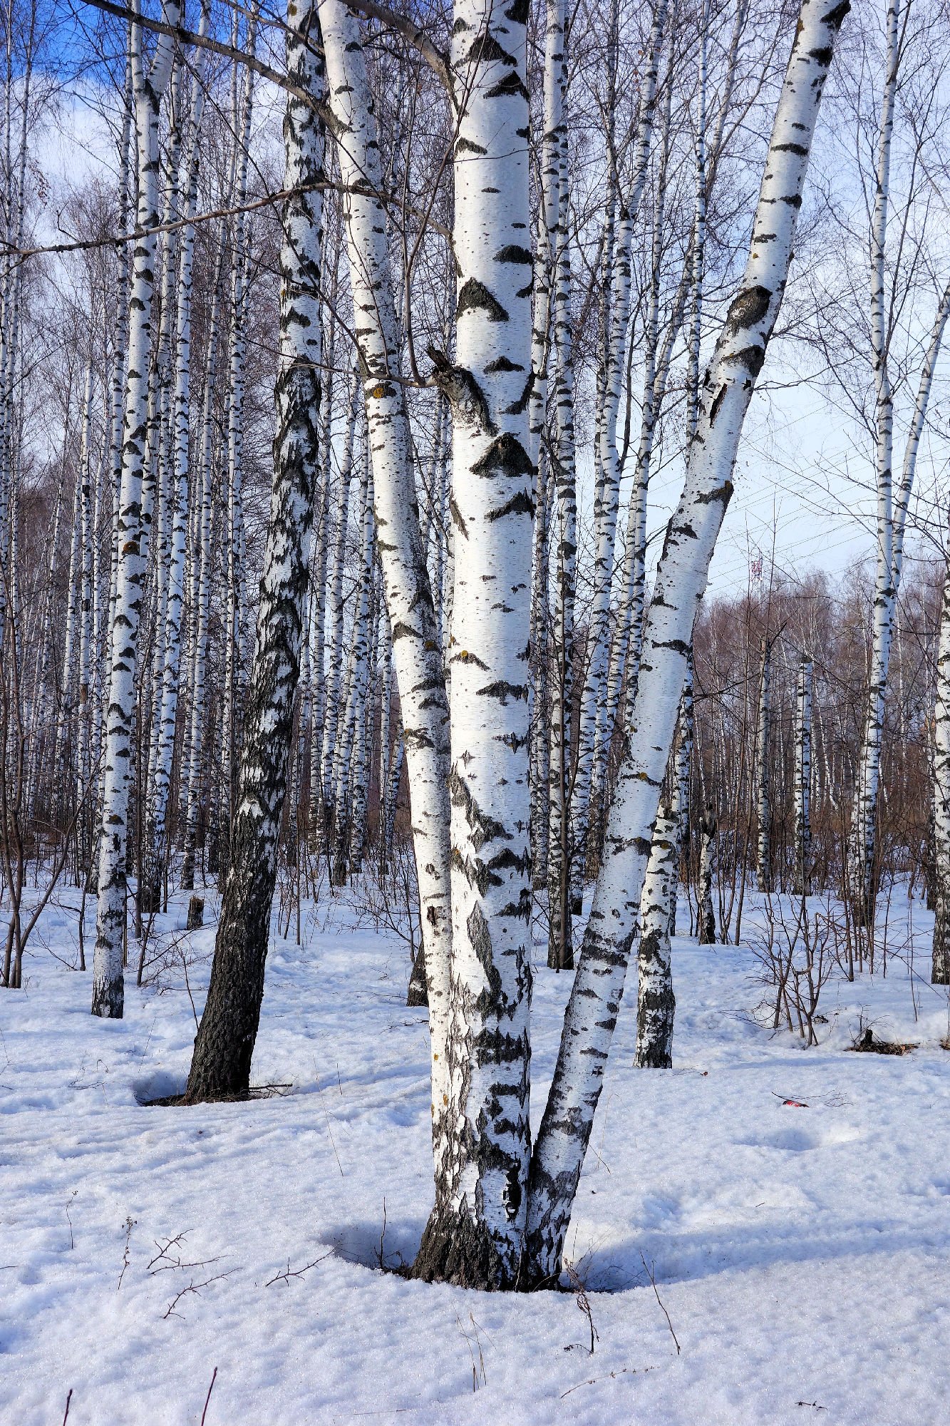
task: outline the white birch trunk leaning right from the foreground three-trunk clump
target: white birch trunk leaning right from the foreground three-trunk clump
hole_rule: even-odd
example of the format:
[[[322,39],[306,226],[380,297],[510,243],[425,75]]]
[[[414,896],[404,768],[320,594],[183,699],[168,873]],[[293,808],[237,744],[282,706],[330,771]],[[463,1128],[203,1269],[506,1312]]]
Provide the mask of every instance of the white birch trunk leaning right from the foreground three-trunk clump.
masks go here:
[[[623,977],[683,687],[696,607],[732,495],[742,425],[775,329],[792,258],[809,150],[847,3],[805,0],[776,108],[746,272],[703,381],[686,483],[669,522],[643,639],[632,736],[611,809],[605,857],[565,1014],[531,1168],[523,1276],[551,1281],[571,1218]]]

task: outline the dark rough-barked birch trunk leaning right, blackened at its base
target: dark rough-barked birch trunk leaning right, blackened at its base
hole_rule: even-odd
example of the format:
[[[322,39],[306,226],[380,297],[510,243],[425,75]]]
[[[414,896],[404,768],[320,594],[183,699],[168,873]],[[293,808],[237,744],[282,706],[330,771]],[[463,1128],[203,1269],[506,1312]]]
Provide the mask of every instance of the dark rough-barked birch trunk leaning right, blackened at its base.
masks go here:
[[[264,995],[320,469],[324,125],[318,106],[324,100],[324,67],[317,40],[314,0],[290,0],[287,74],[295,91],[304,93],[288,91],[284,114],[284,188],[292,197],[281,214],[274,486],[231,853],[208,1000],[185,1091],[188,1102],[247,1092]]]

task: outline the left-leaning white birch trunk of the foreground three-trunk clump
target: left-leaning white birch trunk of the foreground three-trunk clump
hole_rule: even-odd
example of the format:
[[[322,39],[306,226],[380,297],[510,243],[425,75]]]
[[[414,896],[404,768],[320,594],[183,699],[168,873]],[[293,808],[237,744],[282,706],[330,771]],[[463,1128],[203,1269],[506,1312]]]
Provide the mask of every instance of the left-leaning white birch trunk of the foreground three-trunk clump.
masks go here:
[[[341,0],[320,0],[320,17],[344,185],[349,285],[358,314],[357,344],[372,453],[379,565],[392,625],[392,655],[409,773],[412,841],[429,988],[432,1144],[438,1165],[448,1152],[445,1117],[449,1112],[449,723],[445,674],[425,563],[412,436],[401,381],[402,341],[397,322],[387,214],[382,201],[375,197],[382,193],[384,181],[367,61],[357,19]],[[408,302],[409,294],[405,297]],[[446,379],[451,385],[448,359],[439,352],[432,355],[445,389]]]

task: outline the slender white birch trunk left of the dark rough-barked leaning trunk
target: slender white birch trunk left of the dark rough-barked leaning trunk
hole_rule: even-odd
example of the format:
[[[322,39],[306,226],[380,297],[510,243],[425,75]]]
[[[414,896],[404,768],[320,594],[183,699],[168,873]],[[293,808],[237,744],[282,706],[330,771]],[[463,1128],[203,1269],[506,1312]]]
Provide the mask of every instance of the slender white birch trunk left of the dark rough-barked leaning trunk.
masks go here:
[[[137,4],[136,4],[137,10]],[[178,24],[177,0],[164,0],[163,19]],[[138,231],[133,251],[128,304],[128,372],[123,424],[123,469],[117,519],[116,606],[110,630],[108,722],[106,729],[103,820],[98,861],[93,1014],[121,1018],[124,1005],[123,950],[126,931],[126,836],[131,777],[131,727],[136,706],[136,666],[147,529],[143,522],[143,473],[148,425],[148,361],[151,307],[155,287],[158,221],[158,111],[171,74],[173,41],[158,39],[145,68],[141,27],[133,26],[133,84],[138,134]]]

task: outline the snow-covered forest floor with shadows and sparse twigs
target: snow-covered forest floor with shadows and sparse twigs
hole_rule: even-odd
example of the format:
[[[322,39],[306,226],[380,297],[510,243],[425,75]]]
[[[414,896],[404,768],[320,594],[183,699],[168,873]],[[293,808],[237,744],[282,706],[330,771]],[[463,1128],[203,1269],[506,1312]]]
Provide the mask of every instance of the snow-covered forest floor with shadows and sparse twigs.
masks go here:
[[[153,983],[100,1021],[76,904],[0,992],[0,1422],[58,1426],[71,1392],[68,1426],[197,1426],[215,1370],[205,1426],[944,1417],[949,1008],[917,903],[892,908],[886,977],[824,988],[817,1048],[752,1018],[747,947],[678,938],[676,1068],[638,1071],[628,987],[568,1238],[581,1296],[379,1271],[431,1202],[399,940],[311,910],[302,948],[272,944],[254,1057],[290,1088],[148,1107],[184,1084],[214,928],[180,931],[175,898]],[[569,990],[538,963],[535,1124]],[[919,1048],[847,1052],[869,1021]]]

